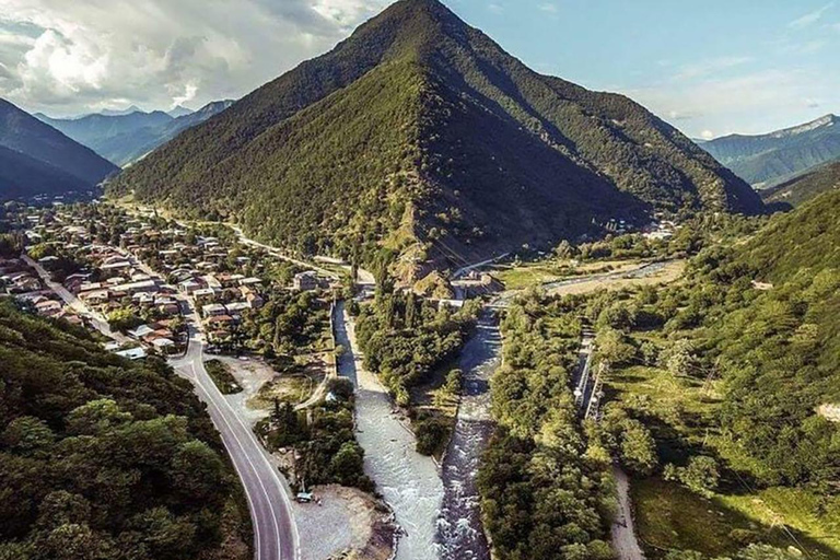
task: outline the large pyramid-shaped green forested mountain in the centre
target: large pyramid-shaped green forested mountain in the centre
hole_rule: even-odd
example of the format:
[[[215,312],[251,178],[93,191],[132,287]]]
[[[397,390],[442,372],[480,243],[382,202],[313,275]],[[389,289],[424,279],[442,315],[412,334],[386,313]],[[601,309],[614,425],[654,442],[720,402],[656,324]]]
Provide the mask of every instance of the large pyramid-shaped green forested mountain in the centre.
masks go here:
[[[304,252],[384,241],[411,262],[652,209],[761,209],[643,107],[533,72],[436,0],[395,3],[180,135],[114,183],[128,191]]]

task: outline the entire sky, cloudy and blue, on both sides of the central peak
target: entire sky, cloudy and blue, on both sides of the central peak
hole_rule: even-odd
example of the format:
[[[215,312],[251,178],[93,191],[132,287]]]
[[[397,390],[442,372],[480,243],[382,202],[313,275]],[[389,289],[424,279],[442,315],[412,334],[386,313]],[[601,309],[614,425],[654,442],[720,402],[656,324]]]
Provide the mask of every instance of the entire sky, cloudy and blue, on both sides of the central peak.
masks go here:
[[[536,70],[692,137],[840,113],[840,0],[445,0]],[[52,116],[235,98],[390,0],[0,0],[0,96]]]

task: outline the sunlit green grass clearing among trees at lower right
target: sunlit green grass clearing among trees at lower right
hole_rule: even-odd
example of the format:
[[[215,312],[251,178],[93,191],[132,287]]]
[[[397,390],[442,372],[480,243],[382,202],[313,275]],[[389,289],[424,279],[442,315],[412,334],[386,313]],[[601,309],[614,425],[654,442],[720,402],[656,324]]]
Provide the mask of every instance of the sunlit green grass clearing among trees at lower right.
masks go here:
[[[714,386],[707,389],[701,381],[633,366],[612,374],[607,399],[644,411],[663,464],[681,462],[688,450],[704,445],[730,468],[750,471],[746,457],[710,429],[719,400]],[[710,500],[658,478],[632,481],[638,533],[649,558],[662,558],[667,549],[732,556],[756,538],[786,548],[795,542],[784,525],[808,553],[840,559],[840,539],[835,537],[840,535],[840,498],[791,488],[754,490],[731,471],[724,479]]]

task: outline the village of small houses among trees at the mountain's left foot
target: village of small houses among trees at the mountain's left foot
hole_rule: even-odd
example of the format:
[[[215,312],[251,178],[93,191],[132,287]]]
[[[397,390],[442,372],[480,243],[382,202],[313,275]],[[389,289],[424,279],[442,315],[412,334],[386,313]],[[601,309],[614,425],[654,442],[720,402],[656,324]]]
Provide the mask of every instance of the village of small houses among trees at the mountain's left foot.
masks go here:
[[[220,238],[154,215],[91,213],[95,208],[7,208],[4,220],[23,233],[25,254],[0,257],[0,290],[42,316],[100,331],[106,349],[125,358],[184,353],[189,308],[200,316],[208,351],[241,353],[253,349],[244,323],[277,292],[326,301],[341,288],[335,278],[238,244],[230,231]]]

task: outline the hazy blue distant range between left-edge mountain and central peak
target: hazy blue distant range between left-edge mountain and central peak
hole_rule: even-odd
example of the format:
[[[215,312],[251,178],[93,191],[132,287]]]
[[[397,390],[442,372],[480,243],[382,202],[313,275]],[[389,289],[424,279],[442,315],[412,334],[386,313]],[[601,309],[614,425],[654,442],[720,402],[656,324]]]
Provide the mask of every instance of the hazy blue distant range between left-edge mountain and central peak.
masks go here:
[[[127,109],[73,119],[50,118],[44,114],[35,116],[108,161],[125,166],[232,104],[232,101],[213,102],[197,112],[178,106],[168,114]]]

